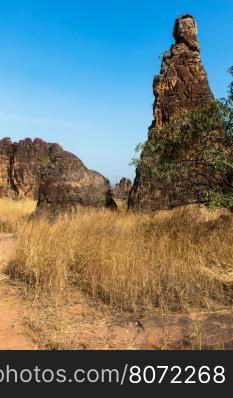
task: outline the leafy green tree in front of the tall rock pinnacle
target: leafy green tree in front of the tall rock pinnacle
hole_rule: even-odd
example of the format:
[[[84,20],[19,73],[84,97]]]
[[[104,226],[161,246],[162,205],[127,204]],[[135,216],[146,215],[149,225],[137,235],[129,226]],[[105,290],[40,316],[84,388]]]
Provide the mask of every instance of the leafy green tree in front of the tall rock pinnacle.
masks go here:
[[[233,75],[233,67],[230,68]],[[203,203],[233,209],[233,82],[226,99],[175,115],[149,130],[132,164],[161,182],[190,183]],[[197,177],[197,178],[196,178]]]

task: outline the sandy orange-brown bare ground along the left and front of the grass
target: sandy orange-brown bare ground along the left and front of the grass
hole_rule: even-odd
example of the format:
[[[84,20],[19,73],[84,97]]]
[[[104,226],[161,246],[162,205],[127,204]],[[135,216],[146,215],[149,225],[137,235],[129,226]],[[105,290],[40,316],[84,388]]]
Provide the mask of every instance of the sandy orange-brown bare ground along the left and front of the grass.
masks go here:
[[[0,350],[233,349],[232,309],[117,316],[77,289],[60,307],[33,308],[5,273],[15,247],[13,234],[0,234]]]

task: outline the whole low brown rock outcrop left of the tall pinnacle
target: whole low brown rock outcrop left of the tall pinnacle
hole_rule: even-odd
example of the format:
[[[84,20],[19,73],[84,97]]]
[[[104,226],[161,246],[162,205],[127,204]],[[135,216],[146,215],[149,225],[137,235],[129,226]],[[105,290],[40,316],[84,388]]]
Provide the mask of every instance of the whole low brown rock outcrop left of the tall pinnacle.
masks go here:
[[[37,214],[82,205],[115,208],[109,181],[58,144],[0,140],[0,197],[38,199]]]

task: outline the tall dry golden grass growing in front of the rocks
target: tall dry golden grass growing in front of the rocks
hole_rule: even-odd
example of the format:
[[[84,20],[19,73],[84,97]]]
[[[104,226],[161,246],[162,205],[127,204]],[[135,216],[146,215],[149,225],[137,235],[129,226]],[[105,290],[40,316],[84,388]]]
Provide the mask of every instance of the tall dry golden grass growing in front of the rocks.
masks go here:
[[[9,206],[20,209],[19,202]],[[9,272],[37,297],[61,297],[72,285],[124,311],[232,305],[233,216],[227,211],[83,209],[49,223],[28,221],[32,208],[22,204],[20,221],[16,208],[5,217],[18,237]]]

